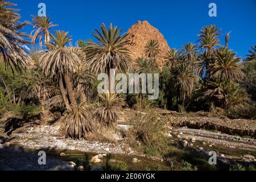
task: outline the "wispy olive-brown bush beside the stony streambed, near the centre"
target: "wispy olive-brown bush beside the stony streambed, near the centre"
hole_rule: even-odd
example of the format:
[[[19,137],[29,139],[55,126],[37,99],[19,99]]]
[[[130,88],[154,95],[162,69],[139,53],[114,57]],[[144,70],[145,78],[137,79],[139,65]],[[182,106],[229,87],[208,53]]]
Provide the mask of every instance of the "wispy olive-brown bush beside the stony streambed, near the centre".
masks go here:
[[[167,123],[156,110],[150,109],[145,113],[134,113],[128,118],[131,128],[127,132],[132,146],[146,154],[158,155],[166,150]]]

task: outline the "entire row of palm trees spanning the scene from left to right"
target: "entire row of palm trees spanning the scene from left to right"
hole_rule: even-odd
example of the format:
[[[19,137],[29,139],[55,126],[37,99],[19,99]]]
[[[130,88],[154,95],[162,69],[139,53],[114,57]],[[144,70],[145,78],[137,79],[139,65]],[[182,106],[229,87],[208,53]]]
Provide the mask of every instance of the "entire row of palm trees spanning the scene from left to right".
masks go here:
[[[14,74],[29,68],[23,76],[25,81],[18,100],[37,100],[42,118],[53,108],[61,108],[67,137],[86,138],[97,130],[97,125],[110,126],[120,117],[126,103],[120,95],[111,92],[111,84],[115,83],[109,81],[108,93],[98,94],[97,109],[91,102],[96,75],[110,75],[112,70],[138,74],[168,70],[171,79],[168,84],[174,87],[179,111],[187,109],[195,92],[196,101],[225,109],[242,110],[250,99],[241,87],[244,77],[241,58],[228,48],[229,34],[225,47],[221,46],[220,28],[216,26],[201,30],[198,46],[186,43],[180,50],[170,49],[162,65],[157,40],[150,40],[144,47],[144,55],[133,61],[127,49],[126,34],[121,34],[122,28],[112,24],[107,28],[102,23],[100,30],[92,32],[97,42],[80,41],[79,47],[72,47],[68,32],[52,34],[52,28],[57,24],[53,24],[49,17],[32,16],[31,22],[19,23],[20,15],[10,6],[14,4],[0,1],[0,53],[6,67]],[[20,28],[28,24],[33,27],[31,35],[20,32]],[[39,49],[32,52],[26,46],[28,44]],[[256,46],[246,61],[255,61],[255,52]],[[10,97],[10,93],[7,94]],[[146,105],[142,88],[137,98],[138,109],[143,110]]]

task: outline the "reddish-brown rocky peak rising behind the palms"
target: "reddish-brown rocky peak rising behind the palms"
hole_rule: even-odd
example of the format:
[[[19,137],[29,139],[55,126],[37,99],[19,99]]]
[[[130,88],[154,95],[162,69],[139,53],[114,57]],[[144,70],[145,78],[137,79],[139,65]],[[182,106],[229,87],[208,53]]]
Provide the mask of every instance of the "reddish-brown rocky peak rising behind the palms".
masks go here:
[[[131,58],[133,60],[137,59],[138,57],[144,56],[144,47],[150,40],[157,40],[160,46],[160,54],[156,57],[156,60],[159,61],[159,64],[163,63],[164,55],[170,49],[166,39],[164,36],[159,32],[159,30],[146,20],[144,22],[138,21],[136,24],[131,26],[127,31],[127,40],[130,41],[130,44],[127,48],[131,51]]]

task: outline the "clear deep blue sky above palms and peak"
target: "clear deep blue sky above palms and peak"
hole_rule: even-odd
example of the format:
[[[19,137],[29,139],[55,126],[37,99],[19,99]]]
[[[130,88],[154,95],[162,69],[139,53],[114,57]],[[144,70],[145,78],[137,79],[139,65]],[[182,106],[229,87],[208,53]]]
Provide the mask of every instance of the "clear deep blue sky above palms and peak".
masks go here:
[[[11,0],[10,0],[11,1]],[[225,44],[225,34],[231,32],[229,48],[245,57],[251,46],[256,45],[256,0],[98,0],[98,1],[58,1],[58,0],[13,0],[18,4],[22,20],[31,20],[37,15],[38,3],[46,4],[46,13],[59,24],[58,30],[69,31],[73,44],[79,39],[91,38],[94,28],[102,22],[110,22],[128,28],[138,20],[148,20],[159,29],[171,48],[180,48],[187,42],[196,42],[202,27],[216,24],[222,28],[221,43]],[[208,5],[217,5],[217,17],[208,16]],[[24,29],[31,31],[31,27]]]

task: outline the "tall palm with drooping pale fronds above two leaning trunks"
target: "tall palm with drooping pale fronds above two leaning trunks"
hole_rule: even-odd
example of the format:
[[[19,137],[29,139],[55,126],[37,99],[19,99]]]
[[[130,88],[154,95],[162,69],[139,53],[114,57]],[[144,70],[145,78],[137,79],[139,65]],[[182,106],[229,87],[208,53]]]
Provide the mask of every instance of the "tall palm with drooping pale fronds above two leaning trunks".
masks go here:
[[[47,76],[57,76],[63,100],[67,109],[70,110],[71,108],[65,93],[63,78],[71,105],[77,106],[71,82],[71,74],[76,71],[77,65],[80,64],[80,59],[75,53],[65,47],[67,43],[72,40],[71,36],[68,37],[68,32],[55,31],[55,34],[56,38],[53,37],[53,43],[55,44],[54,49],[44,53],[44,55],[40,57],[40,63]]]

